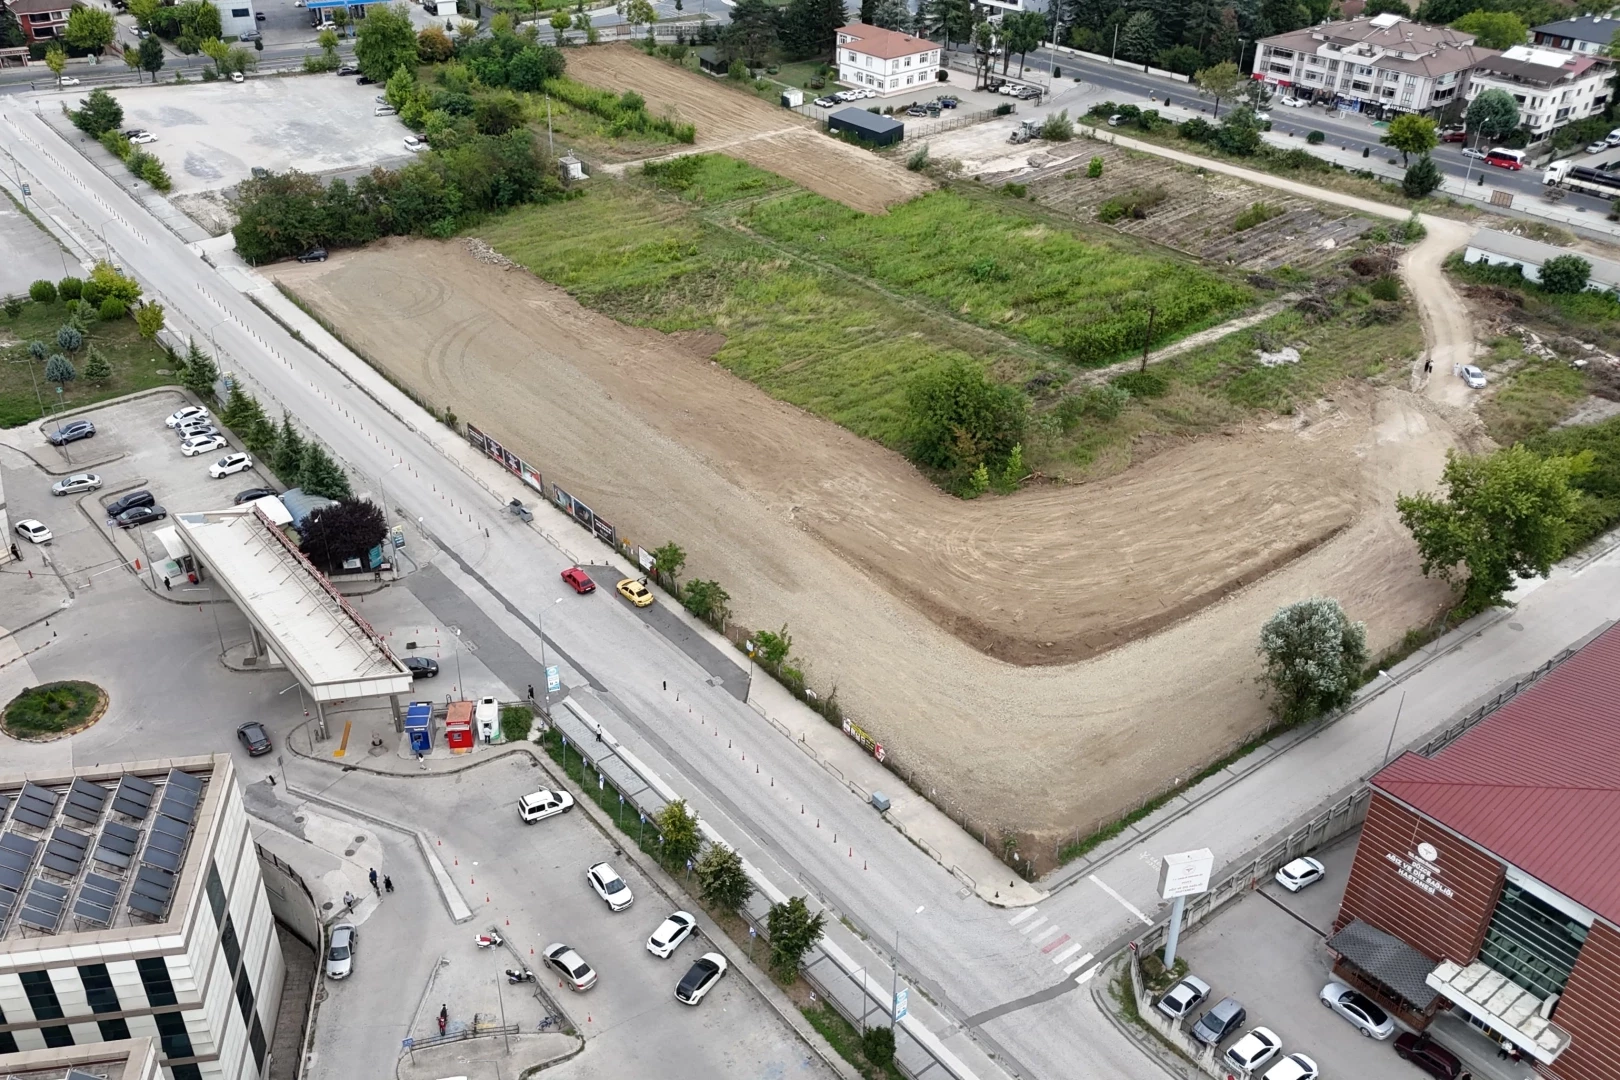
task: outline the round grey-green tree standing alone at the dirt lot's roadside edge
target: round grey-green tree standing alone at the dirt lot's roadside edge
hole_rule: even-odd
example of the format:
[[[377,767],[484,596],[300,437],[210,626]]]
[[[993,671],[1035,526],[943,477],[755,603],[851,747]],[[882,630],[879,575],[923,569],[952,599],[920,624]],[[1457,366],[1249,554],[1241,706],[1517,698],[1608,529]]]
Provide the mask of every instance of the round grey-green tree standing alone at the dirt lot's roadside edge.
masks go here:
[[[1367,664],[1367,628],[1349,622],[1338,601],[1314,596],[1267,619],[1259,651],[1272,712],[1299,724],[1349,703]]]

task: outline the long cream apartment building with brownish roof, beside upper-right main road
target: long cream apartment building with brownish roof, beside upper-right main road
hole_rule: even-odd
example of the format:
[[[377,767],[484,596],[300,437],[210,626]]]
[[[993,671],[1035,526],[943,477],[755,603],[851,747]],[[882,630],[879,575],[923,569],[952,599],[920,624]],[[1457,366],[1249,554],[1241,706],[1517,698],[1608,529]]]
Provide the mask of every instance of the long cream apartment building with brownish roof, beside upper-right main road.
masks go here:
[[[1385,117],[1445,107],[1468,70],[1494,55],[1473,34],[1377,15],[1262,37],[1252,76],[1291,97]]]

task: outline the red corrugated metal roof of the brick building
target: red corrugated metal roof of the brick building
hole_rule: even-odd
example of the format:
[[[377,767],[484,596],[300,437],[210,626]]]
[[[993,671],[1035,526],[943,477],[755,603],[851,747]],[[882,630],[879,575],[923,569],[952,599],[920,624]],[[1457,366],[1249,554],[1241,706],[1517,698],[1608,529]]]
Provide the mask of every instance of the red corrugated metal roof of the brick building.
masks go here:
[[[1620,627],[1372,784],[1620,925]]]

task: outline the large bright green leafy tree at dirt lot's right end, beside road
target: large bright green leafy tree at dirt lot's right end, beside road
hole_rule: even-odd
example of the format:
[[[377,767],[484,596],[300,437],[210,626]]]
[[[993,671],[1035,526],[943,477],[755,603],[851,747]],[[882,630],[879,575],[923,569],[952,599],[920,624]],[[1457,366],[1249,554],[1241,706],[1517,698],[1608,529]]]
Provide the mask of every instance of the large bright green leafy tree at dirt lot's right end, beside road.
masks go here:
[[[1565,555],[1576,512],[1570,479],[1589,468],[1589,452],[1544,458],[1523,445],[1484,457],[1453,450],[1440,476],[1445,497],[1401,495],[1395,508],[1418,541],[1424,575],[1453,586],[1461,578],[1456,614],[1477,615],[1502,602],[1513,578],[1547,576]]]

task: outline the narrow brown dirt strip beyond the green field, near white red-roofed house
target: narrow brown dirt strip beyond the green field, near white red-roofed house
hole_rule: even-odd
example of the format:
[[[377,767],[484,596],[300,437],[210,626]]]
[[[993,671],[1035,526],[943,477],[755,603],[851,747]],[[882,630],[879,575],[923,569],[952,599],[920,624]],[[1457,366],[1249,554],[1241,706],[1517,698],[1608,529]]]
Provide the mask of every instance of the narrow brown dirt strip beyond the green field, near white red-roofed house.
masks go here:
[[[573,49],[569,74],[609,91],[635,91],[650,112],[695,123],[695,149],[724,151],[857,210],[881,214],[928,189],[927,180],[899,162],[831,139],[794,112],[632,45]]]

